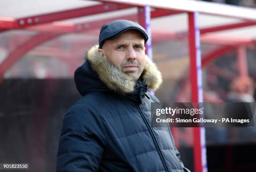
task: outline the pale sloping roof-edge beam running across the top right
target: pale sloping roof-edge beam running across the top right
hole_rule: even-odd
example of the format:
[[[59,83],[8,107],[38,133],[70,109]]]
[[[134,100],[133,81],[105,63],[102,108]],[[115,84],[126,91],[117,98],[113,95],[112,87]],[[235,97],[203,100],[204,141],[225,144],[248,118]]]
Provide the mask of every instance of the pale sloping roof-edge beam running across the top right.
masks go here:
[[[181,12],[199,12],[211,15],[226,16],[256,20],[256,9],[239,7],[200,0],[97,0],[105,3],[117,3],[143,7],[149,5],[153,8],[176,10]]]

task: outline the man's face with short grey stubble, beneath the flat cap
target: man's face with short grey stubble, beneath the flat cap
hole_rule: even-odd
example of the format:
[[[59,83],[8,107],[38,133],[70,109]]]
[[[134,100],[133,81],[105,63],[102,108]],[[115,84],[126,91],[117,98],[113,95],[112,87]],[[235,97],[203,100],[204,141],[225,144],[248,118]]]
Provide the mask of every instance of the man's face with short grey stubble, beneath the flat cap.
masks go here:
[[[128,30],[113,40],[105,40],[99,53],[135,80],[141,76],[145,62],[144,38],[136,30]]]

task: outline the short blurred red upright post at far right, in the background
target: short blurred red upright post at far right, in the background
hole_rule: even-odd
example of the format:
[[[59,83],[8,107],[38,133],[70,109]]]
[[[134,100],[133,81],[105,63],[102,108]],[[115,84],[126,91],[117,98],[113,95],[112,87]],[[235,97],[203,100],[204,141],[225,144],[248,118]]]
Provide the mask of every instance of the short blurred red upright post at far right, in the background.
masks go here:
[[[237,65],[240,76],[248,76],[248,64],[246,58],[246,47],[239,46],[237,48]]]

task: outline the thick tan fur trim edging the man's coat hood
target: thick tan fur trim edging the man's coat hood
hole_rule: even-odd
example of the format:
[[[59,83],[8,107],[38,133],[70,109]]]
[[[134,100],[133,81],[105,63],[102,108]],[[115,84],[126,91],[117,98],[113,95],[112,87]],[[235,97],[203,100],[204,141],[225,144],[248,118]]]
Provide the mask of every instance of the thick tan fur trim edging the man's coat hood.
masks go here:
[[[87,52],[87,60],[91,63],[92,69],[97,72],[100,80],[108,88],[119,93],[127,94],[134,91],[136,81],[133,77],[121,72],[112,63],[100,56],[98,45],[93,46]],[[142,72],[142,81],[148,85],[148,89],[157,90],[162,83],[162,76],[155,63],[145,56],[145,67]]]

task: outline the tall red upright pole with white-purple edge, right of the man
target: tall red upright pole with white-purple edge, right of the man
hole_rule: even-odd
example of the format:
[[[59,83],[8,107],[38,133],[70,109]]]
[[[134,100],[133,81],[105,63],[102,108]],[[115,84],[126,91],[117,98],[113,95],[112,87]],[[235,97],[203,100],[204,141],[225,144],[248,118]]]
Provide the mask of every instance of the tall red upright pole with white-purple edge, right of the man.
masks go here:
[[[200,31],[198,28],[198,13],[188,13],[189,18],[189,56],[191,101],[202,102],[202,66],[200,56]],[[194,166],[195,172],[206,172],[206,146],[202,127],[194,128]],[[202,162],[202,160],[204,162]]]

